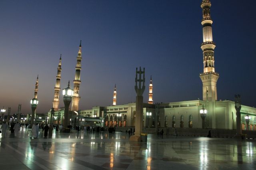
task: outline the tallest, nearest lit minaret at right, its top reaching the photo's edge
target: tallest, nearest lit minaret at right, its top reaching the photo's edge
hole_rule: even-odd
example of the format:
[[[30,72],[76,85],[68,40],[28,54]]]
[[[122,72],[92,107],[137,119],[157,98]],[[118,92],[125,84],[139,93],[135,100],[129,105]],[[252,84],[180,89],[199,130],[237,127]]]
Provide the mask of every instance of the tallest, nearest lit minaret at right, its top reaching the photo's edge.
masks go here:
[[[217,81],[219,74],[215,72],[214,65],[214,48],[215,43],[212,39],[212,19],[210,16],[210,0],[202,0],[201,8],[203,13],[203,43],[201,49],[203,51],[204,73],[200,73],[203,83],[203,100],[206,101],[207,128],[216,128],[215,122],[215,101],[217,100]]]

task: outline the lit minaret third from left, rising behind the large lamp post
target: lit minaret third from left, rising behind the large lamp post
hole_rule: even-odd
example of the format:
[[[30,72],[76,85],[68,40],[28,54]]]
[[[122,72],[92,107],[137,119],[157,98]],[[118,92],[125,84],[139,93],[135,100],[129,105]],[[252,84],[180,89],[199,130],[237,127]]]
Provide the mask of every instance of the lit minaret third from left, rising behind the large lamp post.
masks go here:
[[[74,79],[74,96],[72,97],[72,107],[71,110],[72,111],[78,111],[78,107],[79,107],[79,100],[80,100],[80,96],[79,96],[79,87],[80,87],[80,71],[81,71],[81,60],[82,60],[82,46],[81,46],[81,42],[80,41],[80,45],[79,45],[79,51],[78,51],[78,55],[76,57],[76,74],[75,74],[75,79]]]

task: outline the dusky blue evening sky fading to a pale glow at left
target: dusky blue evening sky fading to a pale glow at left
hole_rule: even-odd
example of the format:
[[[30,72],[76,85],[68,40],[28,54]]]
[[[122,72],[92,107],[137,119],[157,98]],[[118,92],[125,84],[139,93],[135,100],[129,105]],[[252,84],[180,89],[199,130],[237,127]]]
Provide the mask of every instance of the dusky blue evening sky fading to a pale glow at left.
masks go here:
[[[202,0],[1,0],[0,108],[31,113],[39,77],[37,113],[52,108],[62,54],[61,89],[75,76],[82,40],[79,109],[136,100],[136,67],[150,75],[155,102],[202,99]],[[255,103],[255,0],[211,0],[218,100],[241,95]],[[60,95],[60,107],[64,107]]]

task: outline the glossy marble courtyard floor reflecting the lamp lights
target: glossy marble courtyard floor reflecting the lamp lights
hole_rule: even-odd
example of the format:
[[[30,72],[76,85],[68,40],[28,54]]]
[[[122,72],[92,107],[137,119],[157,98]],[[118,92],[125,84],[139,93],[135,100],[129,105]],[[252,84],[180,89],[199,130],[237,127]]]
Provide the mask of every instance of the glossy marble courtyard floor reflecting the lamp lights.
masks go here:
[[[10,131],[0,138],[1,170],[218,170],[256,169],[256,141],[148,135],[148,142],[129,142],[125,132],[114,134],[60,133],[30,139]]]

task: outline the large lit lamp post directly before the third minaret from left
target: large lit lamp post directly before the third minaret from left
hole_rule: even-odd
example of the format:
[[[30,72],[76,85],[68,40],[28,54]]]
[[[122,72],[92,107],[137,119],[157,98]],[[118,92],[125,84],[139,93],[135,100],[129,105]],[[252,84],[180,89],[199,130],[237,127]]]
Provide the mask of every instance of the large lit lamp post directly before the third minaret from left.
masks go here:
[[[69,111],[69,105],[71,103],[71,99],[74,95],[74,90],[69,87],[69,81],[68,81],[68,87],[66,89],[62,90],[63,94],[63,101],[65,105],[64,109],[64,121],[63,121],[63,129],[61,130],[62,132],[70,132],[70,129],[68,128],[68,111]]]

